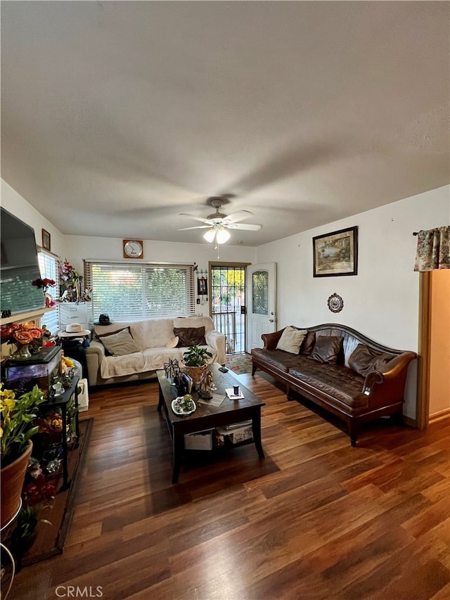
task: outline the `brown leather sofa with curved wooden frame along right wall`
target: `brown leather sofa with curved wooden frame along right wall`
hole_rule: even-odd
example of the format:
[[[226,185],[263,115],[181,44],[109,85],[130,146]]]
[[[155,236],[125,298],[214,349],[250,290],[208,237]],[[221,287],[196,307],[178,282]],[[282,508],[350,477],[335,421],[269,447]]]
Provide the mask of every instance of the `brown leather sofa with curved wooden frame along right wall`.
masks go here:
[[[352,446],[361,423],[385,415],[401,417],[415,352],[394,350],[345,325],[304,329],[307,335],[298,354],[276,349],[284,329],[263,334],[264,348],[252,350],[252,375],[261,369],[285,383],[289,400],[298,392],[338,416],[347,423]]]

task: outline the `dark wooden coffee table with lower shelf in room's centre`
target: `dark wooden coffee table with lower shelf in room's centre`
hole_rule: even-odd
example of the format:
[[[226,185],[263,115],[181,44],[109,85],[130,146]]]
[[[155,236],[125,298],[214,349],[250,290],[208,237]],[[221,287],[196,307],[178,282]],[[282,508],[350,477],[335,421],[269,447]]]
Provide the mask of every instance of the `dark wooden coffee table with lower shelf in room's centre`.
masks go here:
[[[158,411],[164,409],[167,427],[172,438],[174,468],[172,472],[172,483],[177,483],[181,468],[181,458],[184,452],[184,435],[198,431],[212,430],[216,427],[240,423],[241,421],[252,420],[253,440],[259,457],[264,459],[264,451],[261,444],[261,407],[264,402],[259,400],[255,394],[245,388],[238,379],[227,371],[219,371],[219,364],[210,365],[210,371],[214,376],[214,384],[217,391],[214,394],[223,394],[224,401],[219,407],[208,404],[198,403],[198,393],[193,392],[192,397],[197,405],[193,414],[179,416],[172,410],[172,400],[176,398],[176,389],[171,385],[166,377],[165,371],[156,371],[158,383],[160,384],[160,401],[158,402]],[[229,400],[226,397],[226,388],[232,388],[233,385],[239,385],[241,392],[245,396],[243,400]],[[250,440],[249,440],[250,443]]]

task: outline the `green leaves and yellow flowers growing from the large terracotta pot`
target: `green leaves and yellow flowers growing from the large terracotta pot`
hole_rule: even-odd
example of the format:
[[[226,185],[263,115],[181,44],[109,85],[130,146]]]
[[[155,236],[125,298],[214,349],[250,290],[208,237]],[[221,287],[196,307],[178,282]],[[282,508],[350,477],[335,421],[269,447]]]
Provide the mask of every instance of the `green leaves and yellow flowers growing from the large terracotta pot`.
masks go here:
[[[28,447],[28,442],[37,433],[33,425],[38,411],[37,407],[44,402],[44,392],[37,385],[31,392],[25,392],[18,398],[13,390],[4,390],[0,383],[0,456],[1,466],[11,464],[18,459]]]

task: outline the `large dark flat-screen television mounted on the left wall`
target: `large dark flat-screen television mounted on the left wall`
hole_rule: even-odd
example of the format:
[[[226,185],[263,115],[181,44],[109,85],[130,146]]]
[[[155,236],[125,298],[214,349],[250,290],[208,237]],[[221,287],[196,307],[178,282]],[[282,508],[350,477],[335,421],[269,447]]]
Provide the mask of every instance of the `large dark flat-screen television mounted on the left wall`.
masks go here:
[[[14,315],[42,308],[44,292],[32,286],[41,276],[34,229],[0,210],[0,310]]]

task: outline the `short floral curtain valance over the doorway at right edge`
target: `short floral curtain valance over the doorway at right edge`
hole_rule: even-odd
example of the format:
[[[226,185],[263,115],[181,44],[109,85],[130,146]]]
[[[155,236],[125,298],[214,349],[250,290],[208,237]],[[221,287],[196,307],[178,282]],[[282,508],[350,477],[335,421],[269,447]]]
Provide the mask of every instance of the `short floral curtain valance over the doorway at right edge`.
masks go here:
[[[414,271],[450,269],[450,226],[437,227],[417,234]]]

